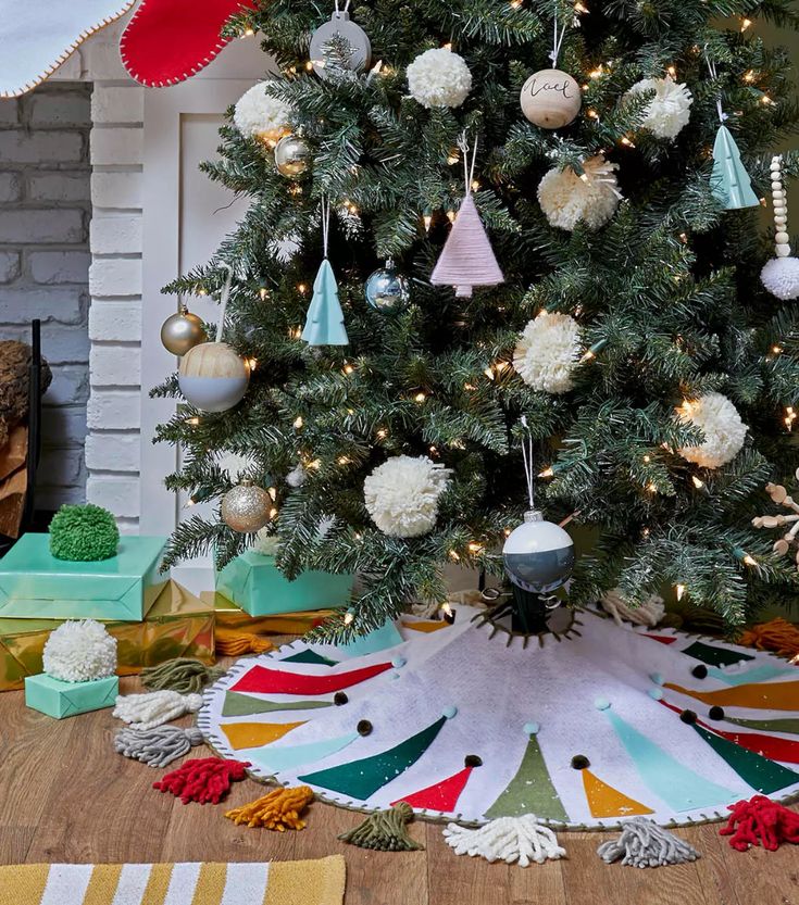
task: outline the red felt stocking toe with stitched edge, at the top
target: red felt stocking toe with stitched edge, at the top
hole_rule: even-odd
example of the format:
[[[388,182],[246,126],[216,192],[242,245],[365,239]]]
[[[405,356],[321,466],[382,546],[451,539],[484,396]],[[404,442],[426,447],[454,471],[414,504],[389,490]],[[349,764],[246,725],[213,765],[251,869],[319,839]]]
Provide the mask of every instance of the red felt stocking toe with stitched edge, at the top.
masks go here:
[[[222,26],[252,0],[142,0],[120,41],[122,61],[142,85],[185,81],[227,43]]]

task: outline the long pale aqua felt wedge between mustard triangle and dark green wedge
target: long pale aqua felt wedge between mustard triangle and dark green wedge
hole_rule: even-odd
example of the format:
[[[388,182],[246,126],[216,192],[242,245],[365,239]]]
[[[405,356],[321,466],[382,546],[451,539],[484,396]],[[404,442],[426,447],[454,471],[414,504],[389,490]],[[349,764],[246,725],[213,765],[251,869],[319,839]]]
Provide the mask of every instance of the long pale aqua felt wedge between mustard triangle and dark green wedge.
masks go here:
[[[635,764],[641,780],[674,810],[719,807],[742,796],[742,790],[725,789],[683,766],[614,714],[612,708],[606,709],[604,714]]]

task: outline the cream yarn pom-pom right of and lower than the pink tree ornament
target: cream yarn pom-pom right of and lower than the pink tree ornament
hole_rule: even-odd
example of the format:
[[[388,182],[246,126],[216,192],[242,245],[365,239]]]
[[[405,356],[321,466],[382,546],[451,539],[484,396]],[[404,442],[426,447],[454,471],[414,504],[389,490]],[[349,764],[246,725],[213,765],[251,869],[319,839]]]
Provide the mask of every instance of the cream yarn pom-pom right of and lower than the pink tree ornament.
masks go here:
[[[572,372],[579,356],[579,325],[567,314],[542,311],[530,320],[513,352],[513,367],[519,376],[547,393],[565,393],[572,389]]]

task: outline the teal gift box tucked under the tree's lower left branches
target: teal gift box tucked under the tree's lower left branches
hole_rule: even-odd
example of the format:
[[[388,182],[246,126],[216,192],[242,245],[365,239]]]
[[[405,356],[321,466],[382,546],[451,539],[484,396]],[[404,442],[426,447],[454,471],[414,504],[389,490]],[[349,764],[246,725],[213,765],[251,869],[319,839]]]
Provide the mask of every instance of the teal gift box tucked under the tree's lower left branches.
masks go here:
[[[352,579],[352,575],[303,571],[289,581],[274,556],[248,550],[216,574],[216,590],[250,616],[270,616],[345,606]]]

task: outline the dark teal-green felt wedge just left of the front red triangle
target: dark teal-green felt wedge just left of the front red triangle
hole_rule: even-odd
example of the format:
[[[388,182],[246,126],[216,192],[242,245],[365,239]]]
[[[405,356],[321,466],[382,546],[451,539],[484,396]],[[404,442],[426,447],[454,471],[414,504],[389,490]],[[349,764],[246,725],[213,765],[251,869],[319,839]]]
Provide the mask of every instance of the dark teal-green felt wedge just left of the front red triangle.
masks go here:
[[[311,785],[319,785],[321,789],[366,801],[378,789],[415,764],[427,751],[446,721],[447,717],[442,716],[426,729],[380,754],[364,757],[361,761],[350,761],[337,767],[297,778]]]

